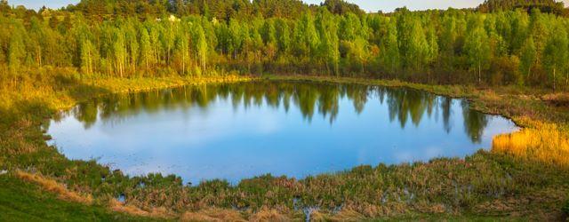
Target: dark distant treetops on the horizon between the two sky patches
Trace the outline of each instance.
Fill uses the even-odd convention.
[[[344,14],[348,12],[364,13],[357,4],[343,0],[326,0],[322,6],[330,12]],[[137,15],[160,17],[174,14],[178,17],[202,15],[208,20],[286,18],[293,19],[303,12],[315,12],[318,5],[304,4],[301,0],[82,0],[79,4],[69,5],[68,12],[82,12],[92,19],[109,19]]]

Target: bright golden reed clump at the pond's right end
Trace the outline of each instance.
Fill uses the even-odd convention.
[[[534,128],[494,137],[492,152],[569,167],[567,133],[552,123],[534,125]]]

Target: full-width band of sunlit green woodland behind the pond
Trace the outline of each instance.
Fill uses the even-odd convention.
[[[516,2],[386,14],[341,0],[83,0],[39,12],[2,0],[0,81],[75,68],[79,78],[238,72],[569,89],[563,4]]]

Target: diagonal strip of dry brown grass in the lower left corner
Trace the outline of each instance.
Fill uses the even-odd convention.
[[[69,202],[81,202],[84,204],[92,203],[92,196],[90,194],[84,195],[70,191],[65,185],[62,185],[51,178],[45,178],[42,175],[28,173],[22,170],[16,170],[16,177],[28,182],[36,183],[48,192],[57,194],[62,200]]]

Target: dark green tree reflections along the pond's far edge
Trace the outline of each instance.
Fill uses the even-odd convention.
[[[389,120],[397,121],[402,129],[410,124],[418,126],[421,120],[442,117],[442,127],[447,133],[453,129],[451,106],[453,99],[431,93],[405,88],[385,88],[361,84],[302,83],[302,82],[255,82],[186,86],[160,91],[115,94],[102,99],[81,103],[68,114],[88,129],[97,120],[108,123],[123,122],[140,112],[160,112],[176,108],[200,108],[207,110],[216,99],[230,99],[233,108],[240,107],[291,107],[298,108],[308,122],[315,113],[333,124],[339,113],[339,101],[348,98],[357,114],[365,109],[370,97],[387,102]],[[375,101],[375,100],[374,100]],[[293,106],[292,106],[293,105]],[[480,142],[488,115],[474,111],[461,99],[464,131],[473,142]],[[435,115],[435,116],[433,116]]]

